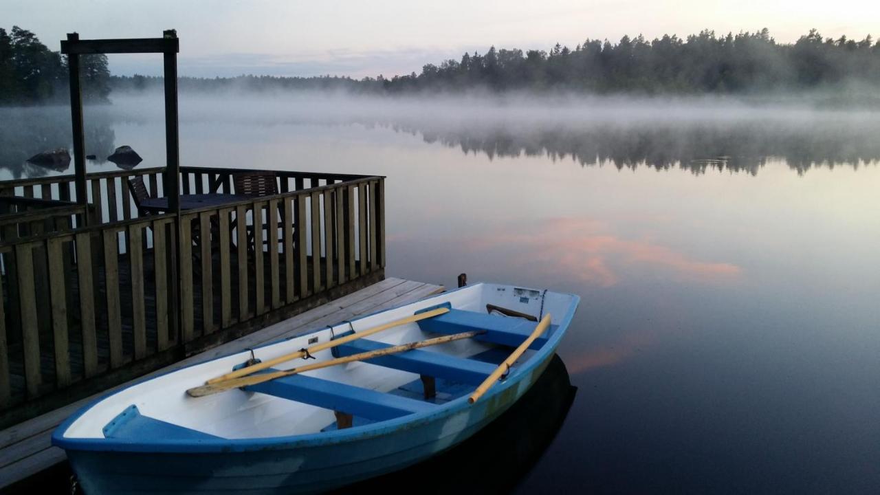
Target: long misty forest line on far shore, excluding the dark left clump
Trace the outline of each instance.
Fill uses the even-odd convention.
[[[794,43],[778,43],[765,28],[716,35],[704,30],[686,38],[647,40],[624,36],[617,43],[586,40],[574,49],[548,51],[489,48],[460,60],[428,63],[419,74],[385,78],[180,78],[186,91],[244,89],[343,90],[365,93],[490,92],[530,90],[590,93],[694,94],[803,91],[861,84],[880,85],[880,41],[825,38],[815,29]],[[113,79],[126,90],[161,85],[161,78]]]

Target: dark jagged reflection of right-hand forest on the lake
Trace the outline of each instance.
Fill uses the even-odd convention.
[[[489,159],[546,156],[581,166],[612,163],[619,169],[680,167],[758,174],[768,157],[784,159],[798,174],[810,168],[876,165],[880,122],[841,119],[803,122],[599,122],[438,126],[430,122],[380,122],[399,132],[421,135],[426,143],[485,153]]]

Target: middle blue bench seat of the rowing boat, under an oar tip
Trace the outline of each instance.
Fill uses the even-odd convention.
[[[391,344],[361,338],[335,347],[333,352],[334,357],[341,358],[360,352],[378,351],[388,347],[392,347]],[[486,377],[492,374],[496,367],[473,359],[456,358],[455,356],[447,356],[439,352],[420,351],[418,349],[400,352],[400,354],[379,356],[378,358],[367,359],[364,362],[410,373],[433,376],[435,378],[472,383],[474,385],[479,385],[483,380],[486,380]]]

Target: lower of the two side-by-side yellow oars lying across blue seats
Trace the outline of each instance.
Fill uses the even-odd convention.
[[[192,397],[202,397],[204,395],[211,395],[216,394],[217,392],[223,392],[224,390],[230,390],[231,388],[241,388],[248,385],[256,385],[257,383],[262,383],[268,380],[275,380],[276,378],[290,376],[291,374],[317,370],[320,368],[326,368],[327,366],[343,365],[352,361],[362,361],[370,358],[378,358],[379,356],[387,356],[388,354],[397,354],[398,352],[411,351],[413,349],[419,349],[420,347],[428,347],[429,345],[445,344],[454,340],[470,338],[472,336],[478,336],[484,333],[486,333],[486,330],[475,330],[471,332],[453,334],[451,336],[438,336],[436,338],[429,338],[428,340],[411,342],[409,344],[393,345],[392,347],[386,347],[385,349],[379,349],[378,351],[361,352],[358,354],[352,354],[351,356],[346,356],[345,358],[336,358],[320,363],[312,363],[311,365],[299,366],[298,368],[291,368],[289,370],[282,370],[273,373],[254,374],[251,376],[236,378],[233,380],[224,380],[222,382],[210,385],[202,385],[202,387],[190,388],[189,390],[187,390],[187,394]]]

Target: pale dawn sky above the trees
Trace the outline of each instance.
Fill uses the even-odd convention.
[[[0,0],[0,27],[21,26],[59,49],[80,39],[158,37],[177,29],[179,74],[362,78],[418,72],[425,63],[496,48],[574,48],[624,34],[652,39],[702,29],[770,29],[792,42],[880,36],[880,2],[858,0]],[[111,55],[114,74],[159,75],[159,55]]]

